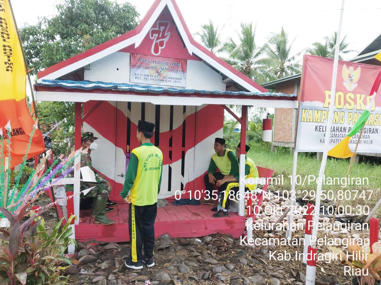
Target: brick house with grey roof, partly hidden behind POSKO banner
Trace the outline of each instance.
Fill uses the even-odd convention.
[[[381,62],[374,57],[381,52],[381,33],[375,40],[371,41],[359,54],[348,60],[349,62],[365,63],[370,65],[381,65]],[[268,90],[284,94],[298,94],[300,96],[301,73],[291,75],[285,78],[268,82],[262,86]],[[296,122],[298,118],[298,109],[275,108],[274,127],[271,142],[271,149],[275,146],[290,147],[293,152],[296,138]]]

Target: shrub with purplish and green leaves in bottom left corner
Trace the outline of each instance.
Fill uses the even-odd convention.
[[[0,207],[12,226],[10,231],[0,230],[0,284],[66,284],[67,278],[60,275],[55,265],[58,261],[72,263],[64,256],[64,252],[71,242],[75,242],[69,238],[72,234],[69,224],[74,216],[59,231],[63,220],[61,218],[53,232],[48,234],[43,218],[37,220],[37,216],[48,208],[33,214],[22,223],[27,206],[21,209],[16,219]],[[33,226],[32,222],[35,222]]]

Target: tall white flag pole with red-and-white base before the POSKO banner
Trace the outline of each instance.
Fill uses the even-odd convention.
[[[340,46],[340,34],[341,34],[341,24],[343,22],[343,13],[344,13],[344,1],[341,2],[341,11],[340,11],[340,20],[339,20],[339,29],[337,31],[337,37],[336,37],[336,48],[335,48],[335,59],[333,61],[333,74],[332,74],[332,85],[331,85],[331,103],[330,108],[328,112],[328,122],[327,122],[327,131],[324,141],[324,151],[323,151],[323,158],[322,158],[322,164],[320,165],[320,171],[319,171],[319,180],[323,180],[323,175],[325,171],[325,165],[327,163],[327,155],[328,155],[328,138],[330,137],[331,133],[331,126],[332,126],[332,120],[333,117],[333,107],[335,106],[335,95],[336,95],[336,79],[337,79],[337,69],[338,69],[338,60],[339,60],[339,46]],[[316,237],[317,237],[317,223],[319,222],[319,212],[320,212],[320,196],[322,194],[322,183],[317,184],[316,189],[316,201],[315,201],[315,215],[314,215],[314,223],[313,223],[313,229],[312,229],[312,236],[311,236],[311,249],[313,253],[316,253]],[[313,254],[314,255],[314,254]],[[308,262],[308,261],[312,262]],[[316,273],[316,259],[315,256],[307,256],[307,270],[306,270],[306,285],[314,285],[315,284],[315,273]]]

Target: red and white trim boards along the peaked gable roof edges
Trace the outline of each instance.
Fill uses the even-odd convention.
[[[231,67],[228,63],[221,60],[215,54],[208,51],[201,44],[197,43],[192,38],[191,33],[186,27],[175,0],[156,0],[150,8],[149,13],[142,19],[134,30],[40,71],[38,73],[37,82],[41,82],[42,79],[58,79],[65,74],[79,70],[90,63],[93,63],[106,57],[107,55],[120,51],[133,44],[135,48],[138,48],[141,46],[144,39],[147,38],[150,30],[154,29],[156,26],[158,27],[158,18],[160,14],[163,13],[164,9],[168,9],[174,24],[176,25],[179,37],[187,50],[185,51],[184,49],[186,54],[189,53],[191,56],[197,56],[220,74],[224,74],[224,76],[229,78],[229,80],[236,82],[250,92],[267,92],[266,89],[259,86],[238,70],[235,70],[235,68]]]

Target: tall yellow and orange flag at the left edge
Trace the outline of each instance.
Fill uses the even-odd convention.
[[[35,122],[26,105],[26,67],[10,3],[1,0],[0,4],[0,135],[3,136],[0,155],[7,157],[10,147],[10,168],[14,168],[22,163]],[[27,159],[44,151],[42,133],[36,128]]]

